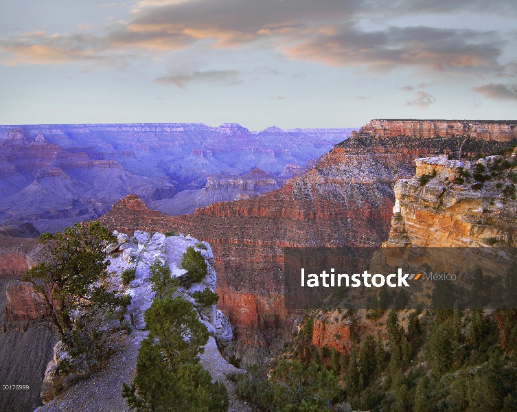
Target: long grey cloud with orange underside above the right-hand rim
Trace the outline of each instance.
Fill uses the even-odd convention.
[[[476,43],[473,41],[476,40]],[[434,27],[390,27],[365,32],[350,25],[332,36],[316,34],[284,47],[295,60],[314,60],[332,66],[365,66],[374,70],[403,66],[497,67],[501,41],[492,32]]]

